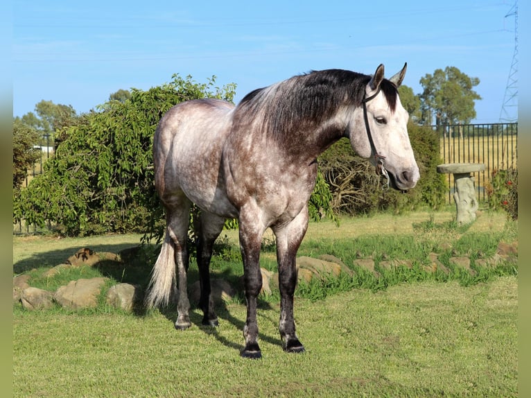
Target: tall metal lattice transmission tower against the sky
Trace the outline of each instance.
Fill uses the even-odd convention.
[[[507,12],[505,18],[514,15],[514,53],[512,55],[511,71],[505,86],[505,96],[500,112],[500,122],[512,123],[518,121],[518,1]]]

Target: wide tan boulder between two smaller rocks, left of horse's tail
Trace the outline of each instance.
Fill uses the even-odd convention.
[[[53,300],[67,309],[93,308],[98,305],[97,298],[101,292],[101,286],[107,279],[109,278],[98,277],[71,281],[55,291]]]

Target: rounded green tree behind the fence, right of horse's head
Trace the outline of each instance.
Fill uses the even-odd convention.
[[[481,96],[473,90],[479,78],[471,78],[456,67],[436,69],[433,75],[420,79],[424,92],[420,94],[422,122],[438,127],[449,124],[466,124],[476,117],[474,101]]]

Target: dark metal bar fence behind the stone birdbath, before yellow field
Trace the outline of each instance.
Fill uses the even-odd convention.
[[[435,126],[434,129],[437,129]],[[465,124],[439,129],[444,163],[482,163],[485,171],[473,173],[478,200],[488,200],[485,187],[493,171],[516,169],[518,123]],[[448,175],[448,201],[453,201],[453,175]]]

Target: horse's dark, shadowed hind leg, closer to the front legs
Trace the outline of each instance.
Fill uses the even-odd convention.
[[[201,295],[199,307],[203,311],[203,325],[218,326],[218,316],[214,311],[214,300],[211,297],[210,288],[210,259],[214,241],[219,236],[225,218],[216,216],[207,211],[202,211],[196,230],[198,233],[198,268]]]

